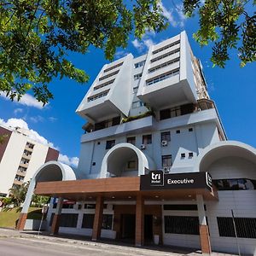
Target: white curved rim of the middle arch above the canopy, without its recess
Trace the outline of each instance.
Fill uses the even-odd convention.
[[[101,177],[108,177],[108,160],[113,157],[114,154],[122,154],[125,155],[127,152],[131,154],[136,154],[138,159],[138,176],[145,174],[145,168],[149,170],[155,169],[154,161],[146,154],[143,153],[142,150],[135,147],[131,143],[119,143],[105,154],[102,160],[102,168],[101,168]]]

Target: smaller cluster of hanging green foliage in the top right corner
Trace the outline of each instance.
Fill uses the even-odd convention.
[[[241,67],[256,61],[256,12],[248,15],[246,6],[255,6],[249,0],[184,0],[183,9],[187,16],[198,10],[200,29],[195,40],[201,46],[215,42],[212,47],[213,66],[224,67],[230,60],[229,49],[238,50]]]

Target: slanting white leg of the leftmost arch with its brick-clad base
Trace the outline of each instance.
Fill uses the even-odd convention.
[[[34,178],[32,178],[31,182],[29,183],[27,192],[26,192],[26,199],[24,201],[22,210],[20,212],[19,220],[16,225],[16,230],[24,230],[24,227],[26,224],[27,212],[28,212],[28,209],[29,209],[31,201],[32,201],[32,195],[34,193],[35,186],[36,186],[36,181]]]

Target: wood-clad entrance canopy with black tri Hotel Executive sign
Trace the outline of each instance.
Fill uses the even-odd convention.
[[[218,201],[216,189],[207,181],[207,172],[164,174],[152,171],[140,177],[39,182],[34,193],[72,201],[94,201],[98,195],[108,201],[134,200],[137,195],[154,201],[195,200],[196,195],[202,195],[206,201]]]

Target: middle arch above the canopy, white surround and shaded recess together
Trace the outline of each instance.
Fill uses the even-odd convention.
[[[140,176],[154,170],[154,161],[131,143],[119,143],[102,160],[101,177]]]

